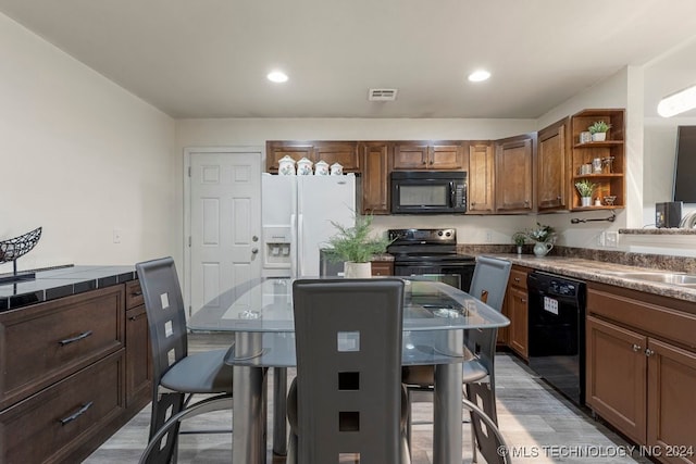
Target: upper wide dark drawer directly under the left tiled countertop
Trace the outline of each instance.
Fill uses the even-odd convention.
[[[124,346],[124,286],[0,314],[0,409]]]

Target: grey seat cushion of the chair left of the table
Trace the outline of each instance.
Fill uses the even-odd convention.
[[[227,351],[189,354],[170,367],[160,385],[190,393],[232,393],[232,366],[225,364]]]

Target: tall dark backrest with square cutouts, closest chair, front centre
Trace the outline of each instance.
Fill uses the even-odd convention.
[[[293,301],[297,462],[399,462],[403,281],[296,280]]]

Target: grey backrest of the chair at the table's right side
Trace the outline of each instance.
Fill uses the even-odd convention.
[[[510,278],[512,263],[492,256],[476,258],[474,276],[471,279],[469,294],[496,311],[502,311],[502,300]]]

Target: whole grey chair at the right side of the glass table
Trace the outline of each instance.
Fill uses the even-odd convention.
[[[510,269],[512,264],[509,261],[492,258],[478,256],[474,275],[471,280],[469,294],[488,304],[496,311],[502,311],[502,302],[505,300],[508,279],[510,278]],[[484,411],[497,424],[497,411],[495,401],[495,352],[497,329],[488,330],[465,330],[464,347],[469,352],[469,359],[463,363],[462,385],[465,387],[465,396],[471,399],[473,396],[483,398]],[[409,393],[411,391],[432,391],[434,385],[434,371],[432,366],[414,366],[402,369],[402,381],[408,386]],[[408,436],[410,438],[410,410],[411,401],[409,394],[409,427]],[[473,417],[472,417],[473,422]],[[472,448],[473,460],[476,462],[476,441],[482,444],[481,439],[484,435],[481,430],[477,432],[472,423]],[[481,437],[480,440],[477,438]],[[488,437],[485,437],[488,441]],[[495,451],[495,449],[494,449]],[[486,460],[489,456],[486,451]],[[495,456],[495,453],[490,459]],[[490,461],[488,461],[490,462]]]

